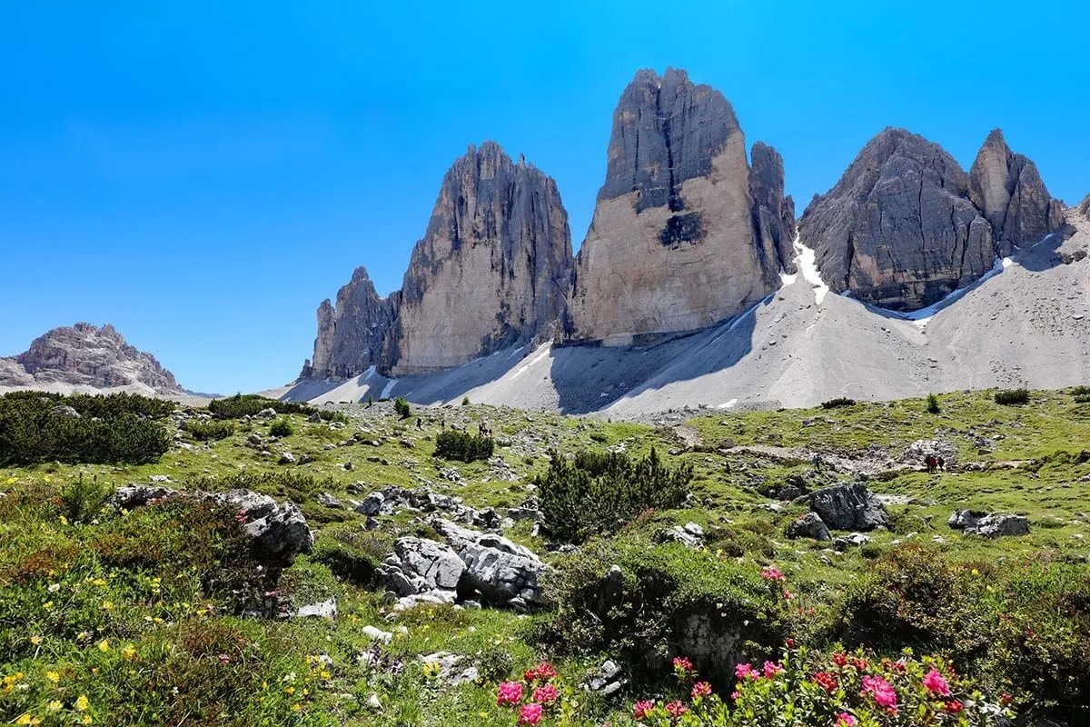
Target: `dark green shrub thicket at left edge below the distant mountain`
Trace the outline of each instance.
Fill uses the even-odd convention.
[[[62,405],[81,415],[52,413]],[[170,448],[170,437],[152,413],[166,411],[162,402],[135,395],[0,397],[0,463],[154,462]]]

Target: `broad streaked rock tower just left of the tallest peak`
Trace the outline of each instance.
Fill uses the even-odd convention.
[[[447,172],[405,272],[396,375],[458,366],[552,337],[571,275],[556,182],[495,143]]]

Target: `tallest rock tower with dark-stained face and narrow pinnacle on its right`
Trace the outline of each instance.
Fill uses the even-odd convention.
[[[754,154],[751,177],[720,93],[683,71],[640,71],[614,112],[606,180],[576,260],[569,336],[625,344],[692,330],[778,287],[777,245],[789,241],[794,214],[778,155]]]

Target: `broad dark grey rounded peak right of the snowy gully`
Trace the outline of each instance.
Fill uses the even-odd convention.
[[[892,310],[933,303],[988,271],[992,226],[969,175],[942,147],[886,129],[799,220],[802,244],[836,292]]]

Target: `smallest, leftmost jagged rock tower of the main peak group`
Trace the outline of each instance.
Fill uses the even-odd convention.
[[[375,291],[367,271],[359,267],[352,280],[318,306],[318,336],[310,376],[359,376],[370,366],[385,366],[386,340],[395,317],[395,302]]]

